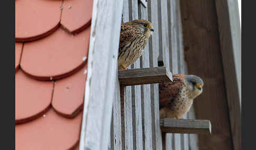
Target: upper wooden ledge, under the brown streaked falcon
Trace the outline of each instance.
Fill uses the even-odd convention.
[[[140,85],[171,82],[172,73],[166,67],[138,68],[118,71],[120,84]]]

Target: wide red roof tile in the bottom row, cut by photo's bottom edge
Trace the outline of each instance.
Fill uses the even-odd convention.
[[[80,138],[82,112],[74,119],[57,115],[53,109],[38,119],[15,126],[15,149],[71,149]]]

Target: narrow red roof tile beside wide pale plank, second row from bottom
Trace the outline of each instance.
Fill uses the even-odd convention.
[[[74,117],[81,111],[84,101],[87,65],[69,78],[57,80],[54,85],[52,106],[66,117]]]

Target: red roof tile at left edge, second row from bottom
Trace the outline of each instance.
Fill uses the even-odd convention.
[[[52,93],[52,81],[34,80],[18,70],[15,74],[15,122],[26,122],[42,115],[50,108]]]

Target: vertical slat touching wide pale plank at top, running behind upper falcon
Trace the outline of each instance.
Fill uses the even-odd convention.
[[[129,0],[124,0],[123,4],[123,23],[129,22]],[[130,69],[131,66],[128,68]],[[132,119],[132,87],[125,87],[123,99],[123,128],[122,128],[122,149],[133,149],[133,119]],[[135,135],[134,135],[135,136]]]

